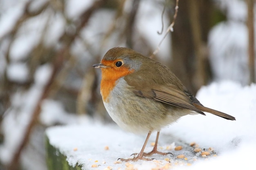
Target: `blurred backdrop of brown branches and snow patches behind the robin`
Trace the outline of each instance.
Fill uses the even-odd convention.
[[[0,170],[46,170],[47,127],[111,123],[92,64],[114,46],[152,55],[175,3],[0,0]],[[180,0],[153,58],[194,95],[213,81],[251,84],[254,15],[254,0]]]

